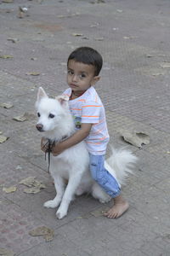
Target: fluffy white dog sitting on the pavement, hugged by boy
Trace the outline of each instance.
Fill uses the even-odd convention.
[[[52,99],[47,96],[42,87],[38,90],[37,130],[42,131],[43,137],[51,142],[60,142],[75,132],[68,101],[67,96]],[[122,185],[127,174],[132,172],[131,164],[134,164],[136,160],[136,156],[128,150],[112,149],[111,157],[105,161],[105,167]],[[88,165],[89,156],[84,142],[66,149],[58,156],[50,155],[49,172],[54,178],[57,195],[54,200],[45,202],[44,207],[59,207],[56,212],[57,218],[65,217],[74,195],[88,192],[102,203],[111,200],[111,197],[92,179]],[[65,179],[68,180],[66,187]]]

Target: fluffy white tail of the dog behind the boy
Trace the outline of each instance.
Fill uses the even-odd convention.
[[[138,158],[130,150],[111,147],[111,156],[105,161],[105,168],[122,185],[125,183],[128,174],[133,173],[133,165],[137,160]]]

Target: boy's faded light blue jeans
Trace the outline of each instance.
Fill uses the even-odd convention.
[[[99,183],[102,189],[104,189],[105,192],[112,198],[120,195],[121,189],[116,181],[116,178],[105,169],[105,155],[89,154],[89,156],[90,172],[94,180]]]

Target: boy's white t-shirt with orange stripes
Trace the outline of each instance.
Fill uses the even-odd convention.
[[[63,94],[71,96],[71,88],[65,90]],[[94,87],[91,86],[82,96],[70,100],[69,107],[77,129],[81,128],[81,123],[93,124],[88,137],[84,140],[88,152],[91,154],[105,154],[109,142],[105,108]]]

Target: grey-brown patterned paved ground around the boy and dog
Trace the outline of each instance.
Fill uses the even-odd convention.
[[[8,137],[0,144],[0,255],[170,255],[169,9],[168,0],[0,0],[0,103],[13,104],[0,108],[1,137]],[[101,214],[112,202],[89,195],[72,202],[62,220],[42,207],[54,185],[35,128],[37,88],[51,96],[65,90],[67,57],[81,45],[104,57],[96,90],[111,143],[139,156],[122,188],[130,208],[118,219]],[[13,119],[24,114],[25,121]],[[128,145],[122,129],[144,132],[150,143]],[[28,188],[20,183],[26,177],[46,188],[28,194],[38,183]],[[42,226],[54,230],[52,241],[29,235]]]

